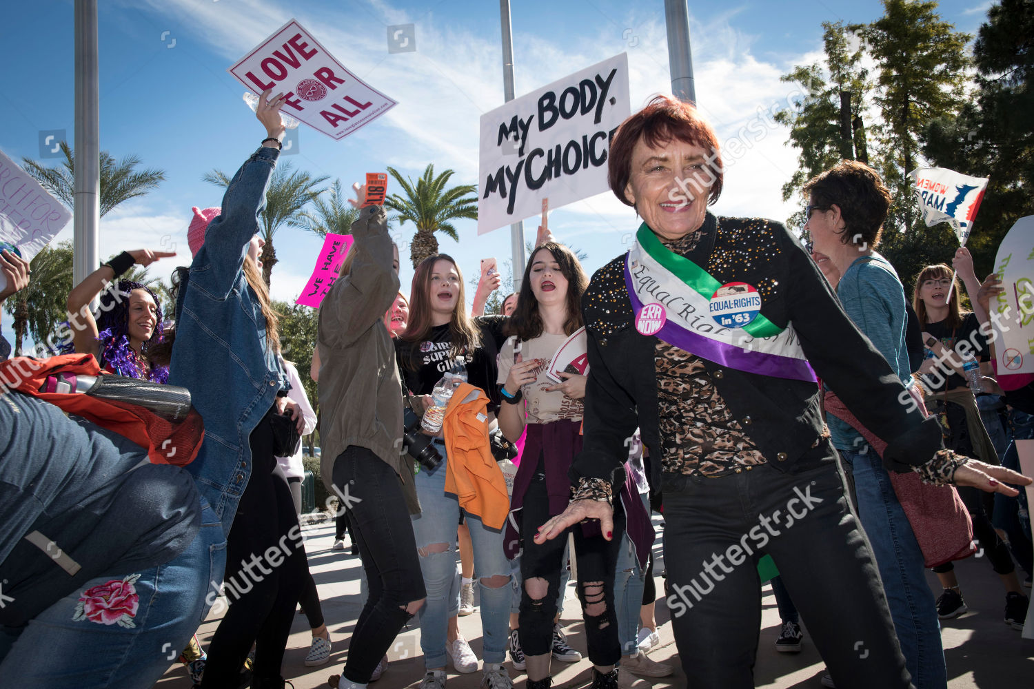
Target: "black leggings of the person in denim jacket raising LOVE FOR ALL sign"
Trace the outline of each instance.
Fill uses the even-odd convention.
[[[272,427],[263,419],[251,432],[251,476],[226,537],[230,608],[209,645],[203,689],[236,687],[252,643],[254,677],[280,677],[307,563],[291,489],[276,466],[272,441]]]

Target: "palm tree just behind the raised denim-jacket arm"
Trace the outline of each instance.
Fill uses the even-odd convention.
[[[315,199],[326,189],[316,187],[326,182],[329,177],[312,177],[305,170],[293,170],[290,162],[278,165],[270,180],[266,191],[266,208],[262,212],[262,228],[260,234],[266,241],[262,250],[262,272],[269,286],[273,267],[277,263],[276,250],[273,248],[273,236],[281,226],[304,227],[302,209]],[[230,178],[220,169],[206,173],[202,180],[218,187],[229,187]]]

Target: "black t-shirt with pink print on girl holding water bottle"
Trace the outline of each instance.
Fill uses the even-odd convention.
[[[475,323],[481,328],[481,346],[466,352],[467,382],[488,394],[491,404],[488,410],[499,408],[499,390],[495,385],[495,358],[499,345],[506,339],[503,324],[507,316],[479,316]],[[416,348],[416,351],[414,351]],[[398,356],[398,371],[402,375],[402,386],[413,395],[430,395],[434,385],[456,364],[449,323],[435,325],[419,343],[401,339],[395,340]]]

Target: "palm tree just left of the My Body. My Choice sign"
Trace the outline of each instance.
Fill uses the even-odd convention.
[[[385,199],[385,208],[398,213],[399,222],[405,224],[413,221],[417,232],[409,245],[409,258],[416,268],[420,261],[438,252],[438,240],[434,232],[443,232],[459,241],[459,234],[452,225],[456,218],[478,218],[477,187],[473,184],[462,184],[446,188],[454,170],[447,169],[437,177],[434,176],[434,164],[427,165],[424,174],[414,185],[413,180],[402,179],[398,170],[389,167],[395,181],[405,192],[405,196],[392,194]],[[474,195],[467,195],[474,194]]]

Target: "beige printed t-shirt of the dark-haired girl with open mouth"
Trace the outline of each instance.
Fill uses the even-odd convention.
[[[572,400],[560,390],[546,390],[547,387],[557,384],[546,375],[546,371],[552,364],[553,354],[567,341],[568,337],[567,335],[543,333],[521,345],[521,361],[541,359],[539,366],[535,368],[535,382],[521,385],[521,393],[524,395],[524,409],[527,413],[526,422],[528,424],[548,424],[560,419],[580,420],[582,417],[581,400]],[[584,334],[582,337],[585,337]],[[510,369],[513,368],[516,341],[515,337],[507,339],[499,350],[499,375],[496,378],[499,384],[507,381]]]

